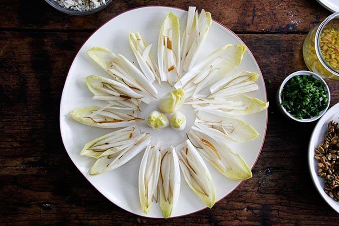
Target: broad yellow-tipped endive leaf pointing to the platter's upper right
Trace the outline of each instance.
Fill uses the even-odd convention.
[[[192,67],[174,87],[184,89],[187,96],[194,96],[238,67],[245,51],[246,46],[240,44],[228,44],[215,50]]]

